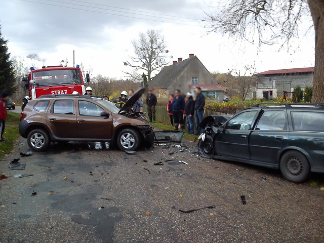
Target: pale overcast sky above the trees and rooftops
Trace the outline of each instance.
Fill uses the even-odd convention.
[[[11,56],[38,54],[45,65],[62,59],[93,68],[93,75],[126,78],[123,62],[133,54],[131,41],[140,32],[165,36],[170,64],[193,53],[210,72],[241,69],[256,62],[257,72],[314,66],[314,35],[295,41],[295,48],[241,43],[211,33],[201,24],[210,0],[1,0],[2,36]],[[214,5],[215,6],[215,5]],[[299,49],[296,49],[300,46]]]

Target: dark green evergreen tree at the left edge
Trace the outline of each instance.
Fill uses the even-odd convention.
[[[17,86],[15,85],[13,61],[10,60],[7,42],[2,37],[0,25],[0,92],[6,90],[9,95],[15,93]]]

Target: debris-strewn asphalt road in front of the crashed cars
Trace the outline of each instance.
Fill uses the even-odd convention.
[[[104,143],[52,144],[23,157],[20,139],[0,161],[11,176],[0,181],[0,241],[324,242],[323,191],[182,145],[127,154]],[[25,170],[8,169],[14,158]]]

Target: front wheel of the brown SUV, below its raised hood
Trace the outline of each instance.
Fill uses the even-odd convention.
[[[136,150],[140,145],[140,135],[134,129],[123,129],[118,134],[117,143],[121,150]]]

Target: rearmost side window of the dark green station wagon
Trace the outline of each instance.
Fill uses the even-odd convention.
[[[324,112],[291,111],[295,131],[324,132]]]

